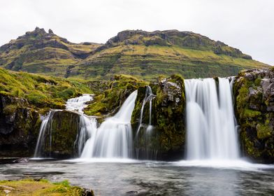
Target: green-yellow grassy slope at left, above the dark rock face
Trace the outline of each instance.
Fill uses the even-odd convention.
[[[62,108],[67,99],[92,93],[85,80],[66,80],[0,68],[0,94],[25,98],[38,108]]]

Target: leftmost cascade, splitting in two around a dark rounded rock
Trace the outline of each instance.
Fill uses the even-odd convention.
[[[77,137],[75,139],[74,146],[77,148],[76,155],[80,155],[82,153],[82,149],[84,148],[85,141],[90,137],[91,132],[96,130],[96,119],[92,117],[85,116],[83,114],[83,109],[87,106],[85,103],[92,101],[92,96],[90,94],[83,94],[80,97],[75,97],[69,99],[66,102],[66,111],[75,111],[80,113],[80,125]],[[36,143],[36,149],[34,153],[34,158],[42,158],[45,157],[44,149],[48,148],[48,151],[51,152],[51,143],[52,143],[52,117],[55,114],[55,111],[62,110],[52,110],[48,113],[48,116],[45,116],[41,123],[41,127],[39,130],[38,140]],[[49,155],[50,157],[50,155]]]

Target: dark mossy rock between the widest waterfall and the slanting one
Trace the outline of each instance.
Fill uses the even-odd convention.
[[[131,116],[135,133],[136,157],[140,159],[178,160],[183,158],[185,146],[185,86],[180,76],[159,78],[151,83],[151,125],[149,103],[143,110],[140,127],[140,110],[145,98],[145,87],[138,88],[136,105]],[[140,127],[140,128],[139,128]],[[138,132],[138,133],[137,133]]]

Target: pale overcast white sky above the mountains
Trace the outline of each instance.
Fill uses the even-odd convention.
[[[178,29],[274,65],[274,0],[0,0],[0,45],[32,31],[106,43],[126,29]]]

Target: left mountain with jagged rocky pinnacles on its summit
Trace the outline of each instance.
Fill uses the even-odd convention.
[[[71,43],[36,27],[0,47],[0,66],[13,71],[64,76],[69,66],[89,55],[98,43]]]

